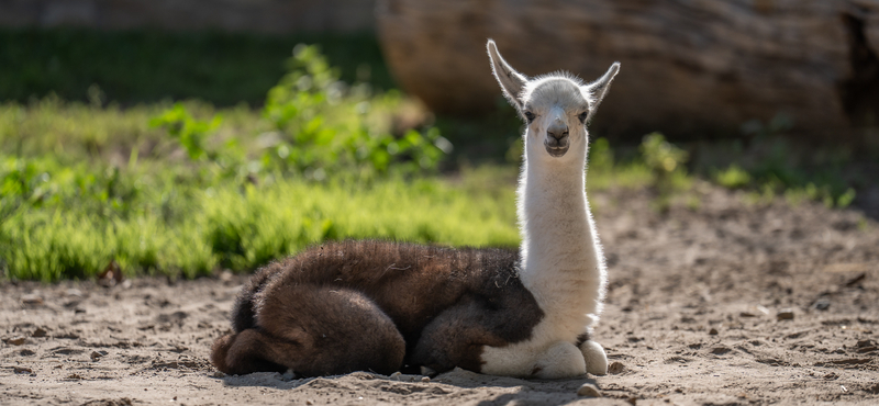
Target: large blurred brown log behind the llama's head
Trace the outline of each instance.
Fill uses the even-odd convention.
[[[398,81],[441,113],[497,105],[492,37],[526,75],[594,80],[621,61],[593,123],[605,134],[728,135],[783,115],[799,134],[877,136],[879,0],[380,0],[376,13]]]

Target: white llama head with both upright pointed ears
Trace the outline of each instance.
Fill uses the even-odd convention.
[[[561,158],[575,148],[585,158],[589,142],[586,124],[608,93],[620,63],[613,63],[604,76],[591,83],[566,72],[528,79],[503,60],[493,41],[489,40],[487,46],[494,78],[527,123],[526,157]]]

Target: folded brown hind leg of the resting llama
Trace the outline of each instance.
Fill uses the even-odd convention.
[[[315,376],[353,371],[390,374],[402,364],[402,336],[393,322],[359,292],[269,285],[256,302],[257,327],[237,337],[223,337],[214,345],[212,359],[218,369],[237,371],[231,373],[266,371],[263,360],[270,360],[268,366],[276,368],[269,371],[281,365],[299,375]]]

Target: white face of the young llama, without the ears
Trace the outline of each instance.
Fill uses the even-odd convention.
[[[526,86],[522,99],[528,150],[542,145],[541,149],[553,158],[564,157],[570,148],[585,150],[589,101],[578,83],[564,77],[536,80]]]

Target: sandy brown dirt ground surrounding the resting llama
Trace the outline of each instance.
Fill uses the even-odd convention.
[[[698,207],[666,214],[646,190],[591,196],[607,376],[224,376],[208,353],[243,277],[5,282],[0,405],[879,404],[879,224],[698,189]],[[601,397],[578,395],[583,383]]]

